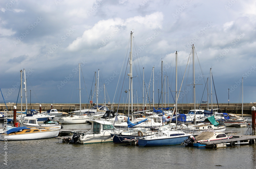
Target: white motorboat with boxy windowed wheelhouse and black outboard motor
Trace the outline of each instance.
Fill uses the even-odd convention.
[[[69,143],[102,143],[102,142],[112,142],[111,134],[120,133],[120,130],[115,129],[112,123],[104,120],[91,120],[92,127],[90,132],[86,133],[74,133]]]

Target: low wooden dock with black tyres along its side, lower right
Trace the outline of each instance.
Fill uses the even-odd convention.
[[[241,144],[254,145],[255,139],[256,139],[256,136],[252,136],[252,135],[234,135],[233,138],[231,139],[200,142],[200,144],[204,144],[208,148],[235,147]]]

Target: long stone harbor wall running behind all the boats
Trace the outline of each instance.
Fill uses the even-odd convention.
[[[13,106],[15,106],[16,103],[6,103],[6,106],[8,108],[8,111],[13,111]],[[31,103],[28,104],[28,109],[36,109],[39,110],[39,103]],[[95,103],[92,104],[91,106],[96,105]],[[103,103],[99,103],[99,105],[103,105]],[[169,107],[173,107],[173,103],[169,104]],[[200,104],[196,104],[196,109],[199,108]],[[212,104],[213,108],[218,108],[217,104]],[[6,110],[5,104],[1,103],[0,104],[0,111]],[[83,103],[81,104],[81,109],[87,109],[89,108],[90,104]],[[251,114],[251,107],[256,106],[256,103],[243,103],[243,114]],[[70,104],[70,103],[55,103],[53,108],[57,109],[58,111],[62,112],[71,112],[74,110],[79,110],[79,104]],[[127,113],[128,106],[126,104],[120,104],[118,108],[118,104],[114,104],[112,106],[106,106],[109,109],[113,107],[114,111],[117,111],[120,113]],[[161,104],[159,105],[161,107]],[[168,107],[168,104],[164,104],[163,107]],[[158,108],[158,104],[155,104],[155,108]],[[211,105],[209,104],[209,108],[211,108]],[[242,113],[242,103],[219,103],[219,108],[221,112],[227,112],[227,113],[233,113],[233,114],[241,114]],[[42,111],[47,111],[51,109],[51,103],[41,103],[41,110]],[[143,104],[134,104],[133,105],[134,110],[142,110],[143,109]],[[147,105],[147,110],[152,110],[153,105]],[[194,109],[194,104],[193,103],[181,103],[178,104],[178,111],[187,113],[189,110]],[[200,109],[207,110],[207,104],[201,104]],[[21,110],[20,103],[17,104],[17,111]],[[23,111],[26,110],[26,106],[23,104]],[[130,106],[131,110],[131,106]],[[218,111],[219,112],[219,111]]]

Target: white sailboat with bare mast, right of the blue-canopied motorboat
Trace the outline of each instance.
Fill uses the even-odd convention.
[[[79,63],[79,97],[80,97],[80,115],[70,114],[68,117],[63,117],[59,119],[62,124],[80,124],[87,123],[90,120],[88,115],[81,115],[81,86],[80,86],[80,64]]]

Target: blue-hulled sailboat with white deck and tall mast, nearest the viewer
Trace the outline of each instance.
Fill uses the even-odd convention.
[[[176,102],[176,112],[177,112],[177,62],[178,62],[178,52],[176,51],[176,91],[175,91],[175,102]],[[162,77],[163,77],[163,61],[162,61]],[[163,83],[163,80],[162,80]],[[163,84],[162,91],[163,92]],[[163,98],[162,98],[162,107],[163,107]],[[177,116],[176,116],[177,118]],[[164,119],[164,115],[163,115]],[[167,146],[167,145],[178,145],[181,144],[184,139],[187,139],[191,133],[185,133],[183,131],[177,130],[177,119],[176,119],[176,130],[169,130],[168,128],[164,128],[162,131],[158,130],[154,135],[146,136],[138,139],[139,146]]]

